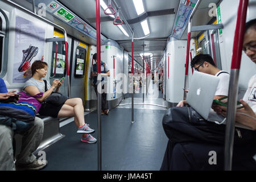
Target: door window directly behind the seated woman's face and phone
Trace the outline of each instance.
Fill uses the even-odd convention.
[[[63,77],[65,75],[65,59],[65,44],[63,42],[53,42],[51,77]]]

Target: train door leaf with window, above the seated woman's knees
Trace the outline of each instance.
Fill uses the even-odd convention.
[[[71,72],[71,97],[79,97],[84,101],[84,75],[86,64],[86,44],[74,40]]]

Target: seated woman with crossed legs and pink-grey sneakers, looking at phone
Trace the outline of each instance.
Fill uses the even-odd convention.
[[[53,90],[58,92],[63,82],[63,80],[60,82],[59,79],[53,80],[52,85],[47,82],[47,91],[45,92],[45,83],[42,78],[47,74],[47,67],[48,66],[46,62],[39,60],[34,61],[31,66],[32,77],[30,80],[26,81],[23,88],[23,90],[30,94],[30,96],[35,96],[36,94],[42,92],[43,96],[36,98],[39,102],[46,100],[46,98],[49,97]],[[82,134],[81,142],[97,142],[97,139],[90,135],[90,133],[93,133],[94,130],[90,129],[89,125],[85,123],[84,106],[82,105],[81,98],[70,98],[60,106],[47,103],[46,105],[42,105],[40,107],[39,114],[49,115],[55,118],[74,117],[75,124],[78,127],[77,133]]]

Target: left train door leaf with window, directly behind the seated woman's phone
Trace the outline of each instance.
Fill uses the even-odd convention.
[[[64,35],[58,31],[54,31],[54,35],[56,37],[63,37]],[[72,39],[70,37],[67,38],[68,42],[68,61],[70,65],[70,58],[71,58],[71,44]],[[52,83],[55,79],[61,79],[65,77],[63,80],[63,84],[59,89],[60,93],[65,94],[68,96],[68,79],[67,79],[67,69],[65,65],[65,43],[64,42],[53,42],[52,43],[52,61],[51,61],[51,69],[49,74],[49,80]],[[70,67],[70,66],[69,66]],[[48,70],[49,72],[49,70]]]

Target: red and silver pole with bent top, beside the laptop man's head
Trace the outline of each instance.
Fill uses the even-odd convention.
[[[185,64],[185,81],[184,81],[184,93],[183,93],[183,99],[186,100],[187,97],[187,90],[188,88],[188,61],[189,61],[189,49],[190,49],[190,39],[191,39],[191,27],[192,27],[192,18],[193,15],[195,14],[195,11],[197,7],[199,6],[201,0],[198,0],[196,3],[196,6],[194,7],[191,15],[189,16],[189,22],[188,22],[188,42],[187,42],[187,56],[186,56],[186,64]]]

